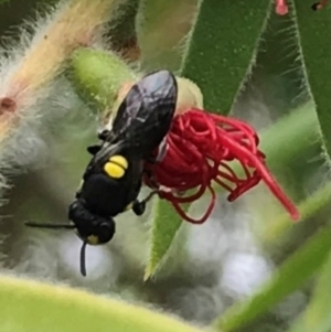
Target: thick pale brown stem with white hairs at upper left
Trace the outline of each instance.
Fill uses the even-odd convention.
[[[45,19],[32,24],[32,35],[22,28],[20,43],[8,46],[9,57],[0,63],[2,163],[8,162],[7,151],[11,157],[17,153],[11,159],[20,163],[22,151],[29,154],[36,148],[29,137],[35,135],[40,119],[52,109],[45,101],[64,62],[76,47],[95,42],[116,6],[117,0],[61,1]],[[22,130],[26,139],[18,142]]]

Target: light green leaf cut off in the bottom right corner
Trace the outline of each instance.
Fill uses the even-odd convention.
[[[317,280],[314,293],[303,314],[288,332],[331,331],[331,253]]]

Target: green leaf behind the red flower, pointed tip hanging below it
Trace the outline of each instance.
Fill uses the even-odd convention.
[[[156,2],[156,1],[154,1]],[[203,93],[205,108],[227,115],[243,79],[255,61],[258,40],[269,17],[271,1],[203,0],[188,42],[180,76],[192,79]],[[182,219],[171,205],[154,200],[152,245],[145,277],[164,261]],[[190,204],[185,212],[190,213]],[[170,217],[171,216],[171,217]]]

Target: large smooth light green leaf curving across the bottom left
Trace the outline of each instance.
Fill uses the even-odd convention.
[[[199,332],[181,321],[65,286],[0,277],[2,331]]]

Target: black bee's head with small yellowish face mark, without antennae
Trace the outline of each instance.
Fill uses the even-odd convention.
[[[68,218],[75,224],[79,238],[88,245],[106,244],[115,235],[114,219],[90,213],[82,200],[70,205]]]

